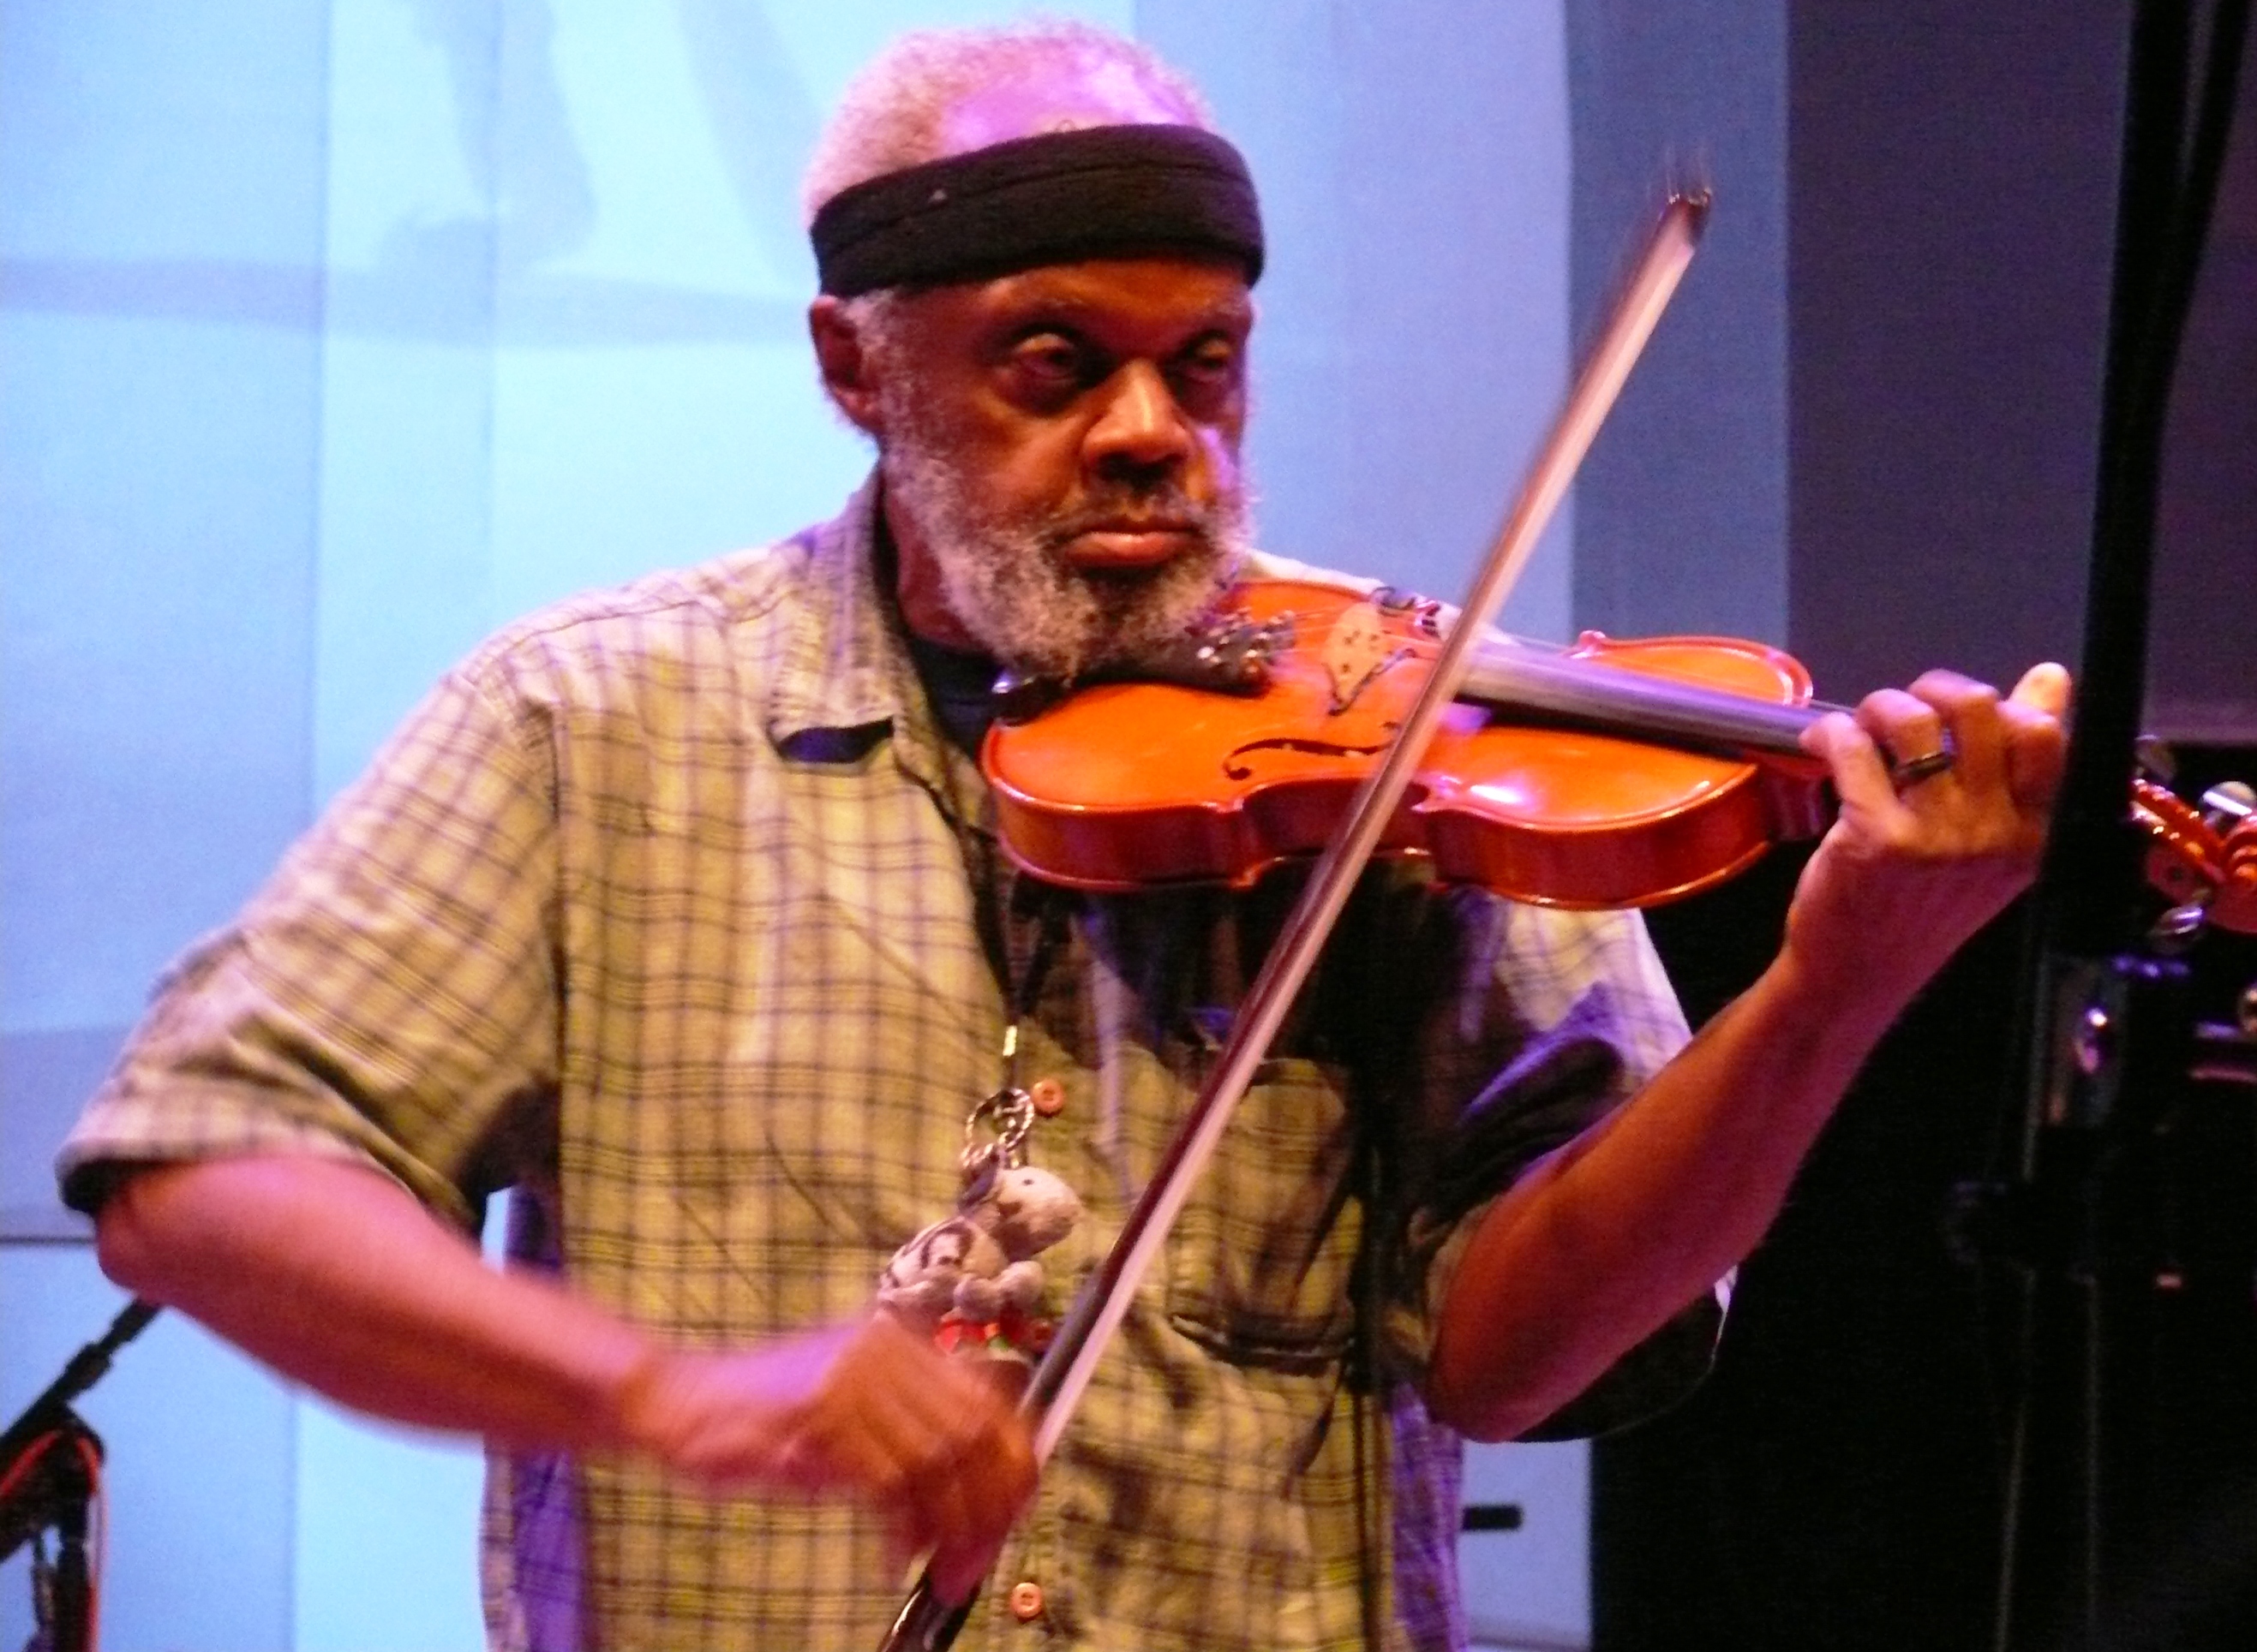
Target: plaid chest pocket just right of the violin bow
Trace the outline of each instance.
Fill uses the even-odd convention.
[[[1343,1067],[1255,1072],[1167,1246],[1167,1316],[1244,1363],[1323,1365],[1354,1332],[1363,1203]]]

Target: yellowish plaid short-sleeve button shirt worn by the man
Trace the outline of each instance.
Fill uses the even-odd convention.
[[[1086,1205],[1043,1257],[1061,1309],[1289,878],[1022,889],[871,528],[864,487],[481,648],[174,966],[63,1149],[65,1198],[235,1151],[370,1162],[463,1225],[517,1187],[519,1250],[657,1336],[745,1345],[864,1309],[950,1210],[1022,993],[1020,1077],[1065,1097],[1029,1155]],[[1681,1038],[1634,919],[1372,873],[961,1645],[1463,1638],[1458,1447],[1415,1401],[1458,1241]],[[1668,1397],[1711,1336],[1695,1304],[1562,1429]],[[882,1523],[846,1501],[510,1453],[485,1582],[492,1643],[539,1652],[869,1647],[901,1605]]]

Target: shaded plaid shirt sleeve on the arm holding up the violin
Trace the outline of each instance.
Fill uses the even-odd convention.
[[[1476,891],[1456,898],[1490,900]],[[1420,1097],[1426,1131],[1408,1155],[1404,1273],[1388,1325],[1390,1345],[1415,1372],[1426,1370],[1442,1302],[1496,1194],[1636,1095],[1688,1036],[1636,914],[1496,900],[1485,923],[1465,928],[1478,941],[1463,968],[1492,998],[1440,995],[1420,1031],[1429,1045],[1420,1063],[1429,1074]],[[1487,1081],[1467,1077],[1467,1061],[1490,1061]],[[1720,1280],[1523,1438],[1605,1433],[1681,1399],[1715,1356],[1729,1291],[1731,1280]]]

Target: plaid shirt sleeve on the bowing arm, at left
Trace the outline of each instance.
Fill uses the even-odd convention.
[[[311,1153],[474,1228],[555,1095],[546,742],[472,668],[445,679],[190,948],[56,1160],[93,1212],[135,1165]]]

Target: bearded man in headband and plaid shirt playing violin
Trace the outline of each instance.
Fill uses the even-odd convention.
[[[1259,217],[1196,93],[1079,25],[894,50],[808,192],[869,485],[451,673],[167,977],[65,1196],[133,1291],[488,1438],[494,1645],[869,1645],[921,1550],[950,1598],[998,1566],[982,1645],[1449,1645],[1456,1435],[1697,1377],[1853,1072],[2031,876],[2065,677],[1817,722],[1839,819],[1690,1043],[1632,916],[1372,869],[1038,1476],[871,1289],[1038,1095],[1056,1311],[1291,898],[1043,889],[971,756],[998,664],[1133,668],[1262,566]]]

